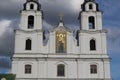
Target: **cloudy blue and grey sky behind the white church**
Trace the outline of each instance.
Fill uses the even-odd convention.
[[[20,10],[26,0],[0,0],[0,73],[11,69],[14,53],[14,29],[20,25]],[[43,29],[57,26],[59,14],[71,29],[79,29],[78,15],[83,0],[39,0],[44,14]],[[103,29],[107,29],[107,51],[111,57],[111,76],[120,80],[120,0],[96,0],[103,11]]]

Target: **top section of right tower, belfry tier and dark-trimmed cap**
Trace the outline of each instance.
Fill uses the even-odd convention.
[[[81,30],[102,30],[102,12],[95,0],[85,0],[79,15]]]

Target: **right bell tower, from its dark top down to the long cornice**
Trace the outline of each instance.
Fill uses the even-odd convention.
[[[95,0],[84,0],[79,14],[81,54],[107,54],[106,30],[102,29],[102,12]]]

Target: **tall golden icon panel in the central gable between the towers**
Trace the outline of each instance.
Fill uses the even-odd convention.
[[[65,31],[56,32],[56,52],[66,53],[66,32]]]

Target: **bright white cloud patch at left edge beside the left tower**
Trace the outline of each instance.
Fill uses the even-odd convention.
[[[11,24],[10,20],[2,20],[0,21],[0,36],[9,28]],[[9,29],[11,31],[11,29]]]

